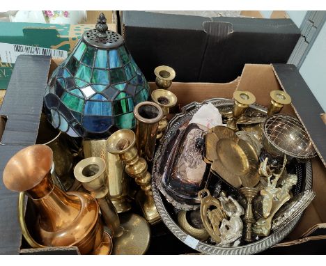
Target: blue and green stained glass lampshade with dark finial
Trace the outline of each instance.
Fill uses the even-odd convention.
[[[122,36],[107,31],[101,15],[96,29],[86,31],[54,70],[45,93],[49,121],[73,137],[103,139],[131,129],[134,106],[148,99],[145,77]]]

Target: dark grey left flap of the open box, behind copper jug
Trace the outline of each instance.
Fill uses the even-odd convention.
[[[22,233],[17,193],[3,185],[3,169],[16,152],[36,143],[50,56],[18,56],[0,116],[7,119],[0,145],[0,253],[19,254]]]

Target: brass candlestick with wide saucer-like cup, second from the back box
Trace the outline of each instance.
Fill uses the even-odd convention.
[[[156,136],[156,139],[161,139],[168,125],[168,120],[166,119],[166,116],[169,114],[169,109],[176,105],[178,98],[171,91],[163,89],[157,89],[153,91],[151,96],[152,100],[158,105],[160,105],[163,110],[163,118],[159,122]]]

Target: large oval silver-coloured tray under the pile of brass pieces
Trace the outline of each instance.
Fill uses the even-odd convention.
[[[164,175],[164,165],[165,162],[162,162],[163,155],[166,152],[169,152],[169,143],[171,139],[173,139],[177,132],[178,128],[187,125],[189,120],[191,120],[192,116],[198,111],[198,109],[208,102],[211,102],[215,107],[217,107],[220,113],[228,114],[232,111],[233,100],[222,99],[222,98],[214,98],[210,100],[206,100],[202,103],[192,102],[191,104],[183,107],[183,111],[180,114],[176,114],[169,122],[169,125],[166,130],[165,136],[161,139],[160,145],[155,152],[155,158],[153,162],[153,171],[152,171],[152,189],[153,189],[153,197],[155,201],[155,205],[157,211],[160,213],[162,217],[162,221],[164,224],[171,230],[173,235],[176,235],[178,239],[192,249],[199,251],[201,253],[206,254],[253,254],[259,253],[268,249],[275,244],[281,242],[281,240],[288,235],[293,228],[297,225],[304,208],[300,208],[301,212],[297,212],[293,214],[293,219],[289,219],[287,217],[286,221],[284,221],[283,226],[281,228],[277,228],[267,237],[263,237],[256,242],[252,242],[250,244],[245,244],[239,247],[216,247],[215,245],[208,244],[205,242],[201,242],[199,240],[190,237],[187,233],[185,233],[180,226],[178,226],[178,219],[176,218],[176,209],[173,208],[173,205],[176,206],[176,203],[173,202],[174,199],[169,196],[169,194],[164,191],[164,187],[162,186],[162,175]],[[267,109],[265,107],[261,107],[258,104],[251,105],[244,116],[252,117],[252,118],[262,118],[267,114]],[[300,163],[295,166],[295,174],[297,174],[298,182],[295,187],[293,187],[293,195],[300,194],[300,192],[306,191],[307,189],[312,188],[312,170],[311,170],[311,162]],[[173,202],[173,205],[171,205]],[[178,203],[177,203],[178,204]],[[180,204],[181,205],[181,204]],[[188,210],[192,210],[192,206],[188,206]],[[306,207],[306,206],[305,206]],[[284,210],[288,208],[284,206],[279,210],[280,212],[286,212]],[[183,209],[180,206],[180,209]],[[276,216],[277,217],[277,216]]]

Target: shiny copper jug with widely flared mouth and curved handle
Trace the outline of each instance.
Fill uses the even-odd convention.
[[[52,181],[53,152],[45,145],[33,145],[17,152],[3,171],[4,185],[13,191],[26,191],[38,208],[38,242],[24,235],[32,247],[78,247],[81,254],[108,254],[111,237],[104,233],[95,199],[85,193],[61,191]],[[19,214],[22,233],[24,196],[20,196]],[[38,244],[40,243],[40,244]]]

